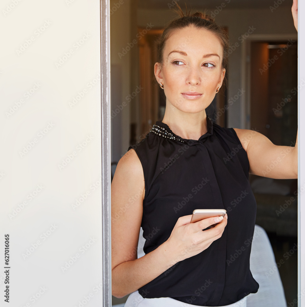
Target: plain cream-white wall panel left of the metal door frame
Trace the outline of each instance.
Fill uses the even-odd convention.
[[[5,0],[0,9],[3,266],[4,234],[10,235],[1,300],[9,286],[11,306],[97,306],[100,2]]]

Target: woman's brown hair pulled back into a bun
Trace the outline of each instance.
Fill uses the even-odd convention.
[[[217,25],[214,22],[214,18],[212,18],[210,15],[206,14],[205,12],[195,12],[193,14],[190,14],[190,11],[187,12],[186,9],[186,15],[183,14],[181,7],[178,5],[177,2],[175,2],[177,5],[177,8],[174,9],[176,13],[179,14],[180,18],[174,19],[169,23],[169,25],[166,26],[166,28],[163,30],[163,33],[158,37],[157,44],[158,44],[158,55],[157,55],[157,61],[161,64],[163,64],[163,51],[165,47],[165,43],[167,39],[170,37],[170,34],[175,29],[183,29],[185,27],[188,27],[190,25],[194,25],[196,28],[200,29],[207,29],[214,33],[217,38],[219,39],[221,46],[222,46],[222,68],[225,68],[227,70],[228,65],[228,49],[229,49],[229,36],[225,29],[222,26]],[[225,79],[224,79],[225,82]]]

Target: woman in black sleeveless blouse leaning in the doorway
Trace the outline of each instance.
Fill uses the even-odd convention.
[[[292,13],[297,28],[296,0]],[[256,201],[248,174],[297,178],[297,145],[266,175],[287,146],[213,124],[205,109],[225,78],[228,37],[202,13],[180,14],[154,66],[164,118],[129,147],[111,184],[112,294],[131,293],[127,307],[246,306],[259,287],[249,269]],[[227,214],[202,231],[219,222],[190,223],[202,208]],[[146,255],[137,259],[141,226]]]

